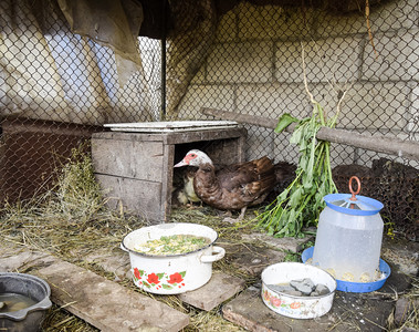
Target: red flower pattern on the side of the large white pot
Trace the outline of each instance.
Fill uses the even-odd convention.
[[[134,282],[138,287],[144,287],[147,289],[155,290],[172,290],[174,288],[182,288],[185,287],[185,276],[186,271],[175,272],[167,274],[166,272],[157,273],[151,272],[148,273],[145,270],[140,270],[138,268],[132,269]]]

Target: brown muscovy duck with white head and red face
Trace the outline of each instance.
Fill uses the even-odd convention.
[[[175,167],[198,167],[193,177],[195,193],[203,203],[217,209],[241,210],[238,219],[224,219],[232,222],[243,219],[248,206],[261,204],[266,198],[283,179],[285,172],[282,168],[295,170],[295,166],[285,162],[277,165],[265,156],[216,170],[206,153],[191,149]]]

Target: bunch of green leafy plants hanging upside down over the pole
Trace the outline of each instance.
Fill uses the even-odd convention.
[[[324,209],[323,197],[337,193],[332,177],[331,143],[317,141],[316,134],[322,126],[335,127],[346,91],[339,95],[335,115],[326,120],[323,107],[307,87],[304,50],[303,70],[305,89],[313,104],[312,116],[297,120],[285,113],[275,128],[275,133],[282,133],[291,123],[297,123],[290,139],[291,144],[298,145],[300,151],[295,179],[256,217],[258,227],[274,237],[303,236],[303,227],[317,225],[320,212]]]

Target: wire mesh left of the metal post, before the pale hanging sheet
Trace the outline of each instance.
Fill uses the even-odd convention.
[[[43,190],[59,160],[104,123],[150,121],[160,110],[155,72],[121,84],[109,48],[72,33],[54,1],[42,11],[0,2],[0,197],[11,200]],[[142,45],[159,73],[158,56],[146,56],[155,41]]]

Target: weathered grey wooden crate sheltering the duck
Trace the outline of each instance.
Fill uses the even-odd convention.
[[[95,176],[108,205],[165,222],[171,206],[174,165],[191,148],[205,151],[214,164],[244,160],[247,131],[239,127],[171,133],[95,133]]]

